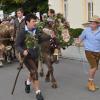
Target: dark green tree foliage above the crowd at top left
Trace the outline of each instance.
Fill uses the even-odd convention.
[[[11,13],[20,7],[25,13],[37,11],[44,13],[48,10],[48,0],[0,0],[0,3],[5,13]]]

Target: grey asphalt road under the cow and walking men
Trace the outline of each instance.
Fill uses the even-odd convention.
[[[87,67],[88,64],[84,63]],[[18,63],[7,64],[0,68],[0,100],[36,100],[34,91],[30,94],[24,92],[24,81],[28,71],[24,68],[19,76],[15,93],[12,96],[11,90],[17,74]],[[61,59],[55,64],[55,77],[58,82],[58,89],[52,89],[50,83],[40,78],[41,90],[45,100],[100,100],[100,90],[91,93],[86,89],[87,74],[82,68],[82,62]],[[44,66],[46,71],[46,67]],[[97,72],[96,83],[100,86],[100,72]]]

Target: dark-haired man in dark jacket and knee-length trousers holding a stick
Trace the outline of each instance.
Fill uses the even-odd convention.
[[[19,32],[16,39],[16,49],[18,52],[20,52],[21,56],[23,57],[23,62],[30,72],[31,82],[33,83],[33,88],[36,93],[36,99],[44,100],[38,81],[38,46],[34,44],[35,40],[30,39],[33,37],[37,37],[36,40],[38,39],[38,32],[35,28],[36,20],[37,17],[33,14],[26,16],[26,25],[24,29]],[[30,82],[26,81],[25,86],[26,93],[30,93]]]

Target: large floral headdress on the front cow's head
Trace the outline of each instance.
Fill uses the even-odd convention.
[[[62,14],[57,14],[53,18],[46,18],[44,21],[38,22],[37,27],[47,35],[50,35],[51,39],[56,39],[61,48],[66,48],[74,42],[69,33],[69,23],[66,22]]]

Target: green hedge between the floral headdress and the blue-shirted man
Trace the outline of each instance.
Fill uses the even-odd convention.
[[[82,28],[76,28],[76,29],[70,28],[69,29],[70,35],[73,38],[78,38],[80,36],[80,34],[82,33],[82,31],[83,31]]]

